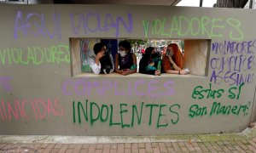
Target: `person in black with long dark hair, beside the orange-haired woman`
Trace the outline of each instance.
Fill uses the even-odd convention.
[[[150,74],[155,76],[160,76],[160,66],[161,59],[160,55],[155,52],[155,48],[146,48],[143,58],[140,60],[139,72],[143,74]]]

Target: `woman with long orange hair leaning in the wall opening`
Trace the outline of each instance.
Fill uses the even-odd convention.
[[[183,70],[183,54],[176,43],[167,46],[166,53],[163,54],[163,67],[166,73],[170,74],[188,74],[188,70]]]

